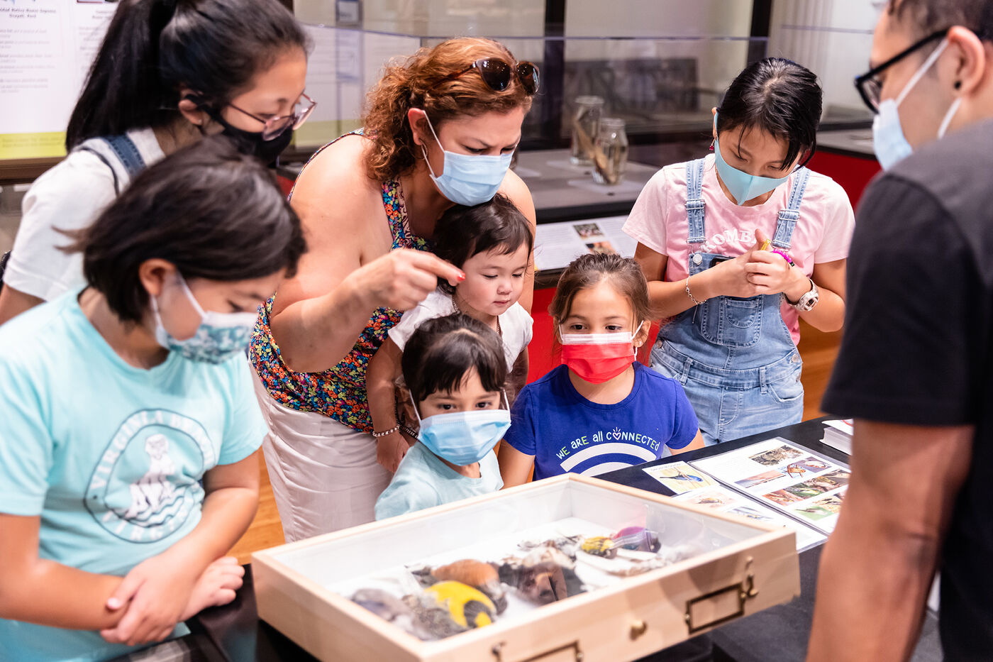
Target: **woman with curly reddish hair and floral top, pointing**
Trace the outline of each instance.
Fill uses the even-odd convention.
[[[537,69],[492,40],[422,49],[369,92],[363,131],[322,148],[300,174],[292,205],[310,252],[266,304],[251,346],[287,540],[374,519],[390,479],[376,440],[400,421],[373,430],[368,360],[439,277],[465,278],[429,252],[445,210],[500,192],[534,223],[530,193],[508,166],[537,87]],[[519,300],[529,309],[525,277]]]

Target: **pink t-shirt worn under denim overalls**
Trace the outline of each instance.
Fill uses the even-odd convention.
[[[780,210],[793,177],[762,205],[741,207],[728,200],[717,181],[714,155],[706,157],[702,196],[706,203],[705,239],[694,250],[737,257],[755,246],[755,230],[772,239]],[[667,165],[645,184],[624,231],[646,248],[666,255],[665,280],[683,280],[689,274],[689,223],[686,217],[686,164]],[[789,254],[808,276],[813,265],[848,256],[855,229],[855,214],[848,195],[833,179],[811,171],[800,204],[800,219],[793,230]],[[783,301],[782,319],[793,342],[800,339],[799,314]]]

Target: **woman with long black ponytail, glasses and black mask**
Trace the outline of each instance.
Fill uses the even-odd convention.
[[[123,0],[66,133],[25,196],[0,324],[82,284],[59,231],[93,222],[145,166],[222,132],[270,163],[313,106],[308,40],[278,0]]]

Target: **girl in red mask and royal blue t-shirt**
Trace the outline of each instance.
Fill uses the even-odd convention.
[[[521,390],[499,452],[505,487],[574,472],[588,476],[703,446],[678,382],[635,361],[651,311],[638,263],[579,257],[548,309],[562,364]]]

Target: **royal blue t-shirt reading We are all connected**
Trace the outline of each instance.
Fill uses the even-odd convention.
[[[596,476],[669,454],[696,436],[698,423],[675,380],[635,363],[635,386],[615,405],[583,398],[559,366],[517,395],[503,439],[534,455],[534,479]]]

